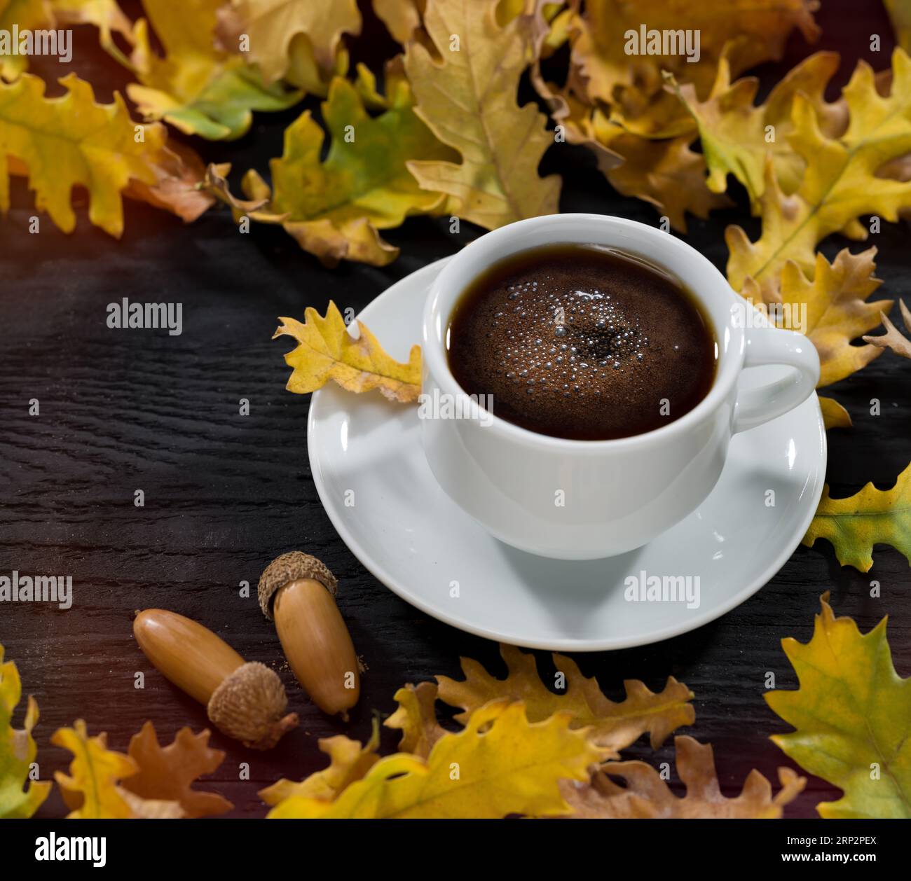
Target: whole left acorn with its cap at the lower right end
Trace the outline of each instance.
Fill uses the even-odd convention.
[[[251,749],[271,749],[297,727],[284,715],[288,696],[274,670],[241,655],[202,624],[176,612],[147,609],[133,622],[139,648],[160,673],[205,704],[222,734]]]

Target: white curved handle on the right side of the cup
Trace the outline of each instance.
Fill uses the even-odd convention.
[[[785,364],[788,375],[758,389],[742,389],[734,405],[732,433],[775,419],[813,394],[819,381],[819,355],[813,343],[795,330],[752,328],[746,333],[744,367]]]

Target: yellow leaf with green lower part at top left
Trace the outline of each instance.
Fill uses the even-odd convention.
[[[215,46],[222,0],[143,0],[148,15],[134,27],[131,64],[139,83],[127,95],[147,120],[164,119],[187,135],[210,140],[241,137],[253,110],[285,110],[302,96],[281,83],[266,85],[259,69],[241,55]],[[164,56],[151,46],[151,23]]]

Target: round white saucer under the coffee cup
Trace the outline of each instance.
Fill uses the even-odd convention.
[[[421,339],[425,294],[444,262],[403,278],[359,316],[394,358],[406,359]],[[741,381],[767,382],[779,370],[747,370]],[[814,395],[734,437],[709,498],[669,532],[619,557],[565,562],[496,541],[449,500],[425,461],[416,406],[333,384],[313,394],[307,438],[313,481],[335,529],[390,590],[469,633],[563,652],[655,643],[744,602],[800,543],[825,472]],[[643,571],[699,576],[699,607],[629,602],[625,579]]]

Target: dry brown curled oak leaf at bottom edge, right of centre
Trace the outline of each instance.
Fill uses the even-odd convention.
[[[674,738],[677,774],[686,795],[674,795],[660,773],[645,762],[608,762],[590,782],[564,781],[560,791],[579,819],[777,819],[783,806],[792,802],[806,785],[791,768],[779,768],[782,788],[772,795],[772,785],[753,770],[742,792],[733,798],[722,795],[710,744],[691,737]],[[619,777],[624,785],[612,778]]]

